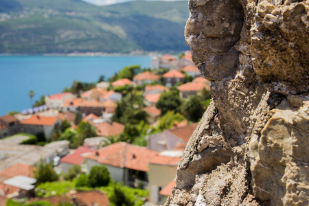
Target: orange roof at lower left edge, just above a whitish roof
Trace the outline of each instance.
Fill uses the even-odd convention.
[[[33,171],[36,168],[32,165],[26,165],[23,163],[18,163],[16,165],[11,166],[10,168],[6,168],[0,172],[1,176],[7,176],[8,178],[12,178],[17,175],[34,177]]]

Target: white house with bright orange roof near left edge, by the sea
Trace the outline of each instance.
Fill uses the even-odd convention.
[[[21,121],[21,130],[24,133],[36,135],[44,133],[48,139],[56,128],[60,128],[61,121],[58,117],[45,117],[40,115],[32,115],[28,119]]]

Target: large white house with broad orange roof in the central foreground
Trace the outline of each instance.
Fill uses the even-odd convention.
[[[93,165],[106,165],[114,181],[124,185],[148,185],[148,164],[158,152],[126,142],[117,142],[87,155],[87,169]]]

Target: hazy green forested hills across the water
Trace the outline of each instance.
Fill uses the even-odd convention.
[[[187,1],[1,0],[0,53],[180,51]]]

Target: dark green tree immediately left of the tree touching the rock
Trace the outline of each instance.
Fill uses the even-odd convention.
[[[168,111],[179,111],[181,106],[181,99],[179,98],[179,92],[171,90],[161,94],[156,107],[161,109],[161,114],[164,115]]]

